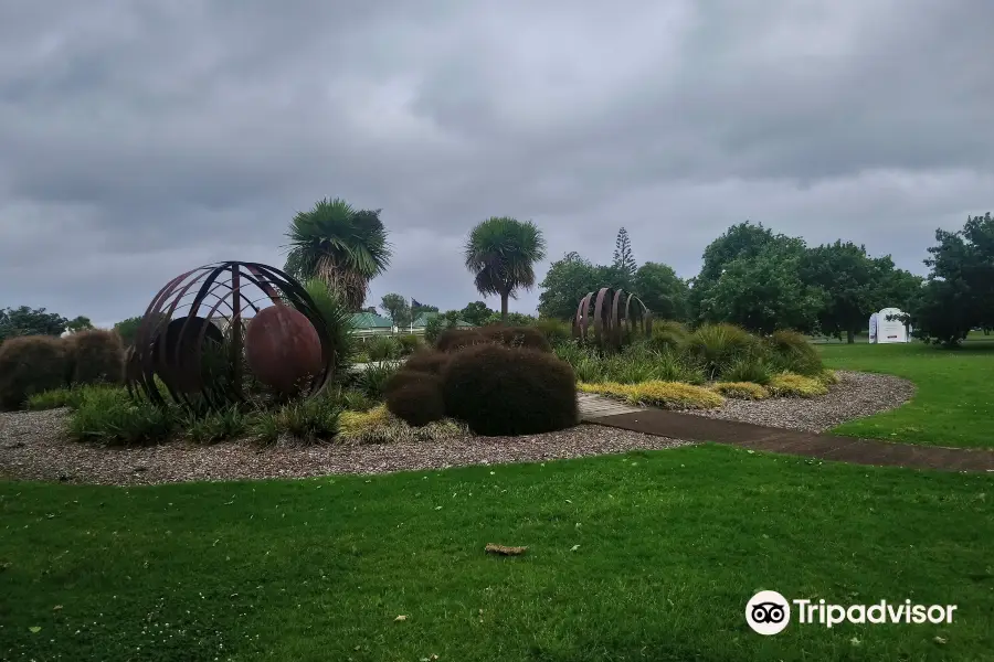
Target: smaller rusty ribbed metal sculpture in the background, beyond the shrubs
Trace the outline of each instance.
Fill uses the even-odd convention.
[[[594,310],[591,318],[590,305]],[[633,307],[634,303],[634,307]],[[618,350],[636,330],[649,335],[653,332],[653,313],[642,299],[622,289],[602,287],[589,292],[580,301],[573,318],[573,338],[581,344],[590,339],[590,322],[593,320],[593,344],[601,350]]]

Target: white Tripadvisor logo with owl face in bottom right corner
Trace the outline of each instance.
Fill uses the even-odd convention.
[[[760,634],[776,634],[791,622],[791,605],[797,622],[832,628],[839,623],[951,623],[955,605],[912,605],[911,600],[874,605],[832,605],[825,600],[787,600],[775,590],[761,590],[745,604],[745,622]]]

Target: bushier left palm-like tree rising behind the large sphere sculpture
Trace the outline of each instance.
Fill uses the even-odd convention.
[[[286,233],[284,270],[299,280],[317,278],[359,310],[369,281],[387,270],[392,254],[380,210],[356,210],[345,200],[319,200],[299,212]]]

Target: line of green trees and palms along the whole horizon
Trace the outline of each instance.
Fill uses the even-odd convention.
[[[359,210],[341,199],[318,201],[289,224],[284,270],[300,280],[322,282],[348,310],[363,310],[370,281],[389,268],[393,254],[380,214],[381,210]],[[898,269],[889,255],[873,257],[852,242],[807,246],[800,237],[747,221],[712,241],[704,250],[699,274],[681,279],[660,261],[638,265],[622,227],[611,264],[595,265],[577,252],[551,264],[538,284],[538,312],[569,320],[588,292],[611,287],[637,295],[656,318],[690,324],[731,322],[757,333],[793,329],[853,342],[874,311],[896,307],[907,311],[906,321],[919,338],[954,345],[971,329],[994,328],[994,220],[990,213],[969,217],[960,231],[937,231],[935,241],[926,260],[930,274],[921,278]],[[424,313],[437,313],[432,316],[434,323],[445,325],[531,321],[509,312],[508,302],[536,286],[535,267],[546,250],[535,223],[487,218],[468,233],[463,261],[480,295],[499,297],[499,311],[475,301],[462,310],[440,312],[395,292],[385,295],[380,308],[401,328]],[[127,341],[138,321],[129,318],[115,328]],[[0,341],[86,325],[86,318],[66,320],[44,309],[0,310]]]

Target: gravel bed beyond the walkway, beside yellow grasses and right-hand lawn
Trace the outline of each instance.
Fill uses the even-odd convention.
[[[893,375],[836,371],[839,383],[828,395],[813,398],[743,401],[728,398],[717,409],[684,412],[770,427],[822,433],[854,418],[863,418],[903,405],[914,395],[914,384]]]

